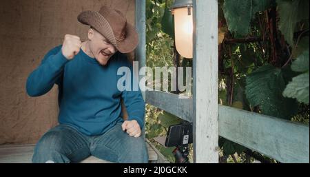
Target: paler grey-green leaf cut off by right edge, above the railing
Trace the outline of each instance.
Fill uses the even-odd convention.
[[[309,72],[294,77],[285,88],[283,96],[309,104]]]

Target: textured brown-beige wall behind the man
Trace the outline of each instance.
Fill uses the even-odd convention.
[[[134,24],[134,0],[1,0],[0,145],[36,143],[56,125],[56,85],[48,94],[30,98],[26,79],[65,34],[85,39],[87,26],[76,17],[102,5],[121,10]]]

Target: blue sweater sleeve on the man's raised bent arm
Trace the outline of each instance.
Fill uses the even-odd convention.
[[[50,91],[54,83],[59,84],[63,68],[68,59],[61,52],[61,45],[53,48],[27,79],[26,90],[29,96],[41,96]]]

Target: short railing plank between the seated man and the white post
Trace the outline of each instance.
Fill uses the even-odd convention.
[[[161,91],[146,91],[146,103],[192,122],[192,98]]]

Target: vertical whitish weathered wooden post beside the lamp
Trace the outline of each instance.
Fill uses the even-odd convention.
[[[194,2],[194,162],[218,163],[218,1]]]

